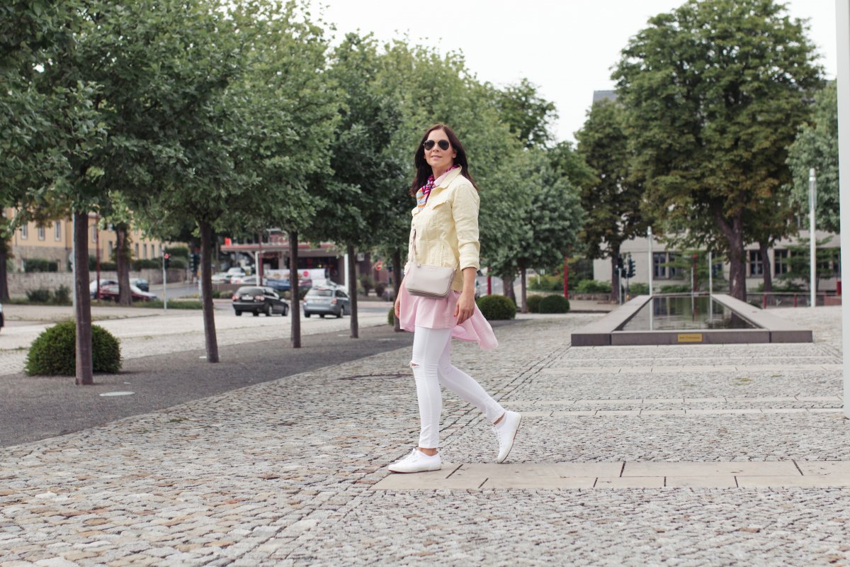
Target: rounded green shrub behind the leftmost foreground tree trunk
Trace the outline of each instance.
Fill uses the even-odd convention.
[[[26,354],[29,376],[74,376],[77,372],[77,323],[62,321],[40,334]],[[95,372],[111,374],[121,370],[121,345],[102,326],[92,326],[92,366]]]

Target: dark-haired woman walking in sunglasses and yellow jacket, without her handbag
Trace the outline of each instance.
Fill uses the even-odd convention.
[[[473,377],[450,362],[451,337],[474,341],[485,350],[498,344],[490,323],[475,304],[480,248],[478,189],[469,174],[466,151],[448,126],[428,128],[413,162],[416,178],[411,196],[416,197],[416,208],[405,274],[409,274],[411,262],[416,262],[453,268],[455,276],[445,298],[413,295],[405,281],[401,282],[395,315],[405,331],[414,333],[411,368],[416,378],[421,432],[419,445],[389,470],[419,473],[442,467],[438,452],[440,384],[476,405],[493,423],[499,442],[496,462],[503,462],[513,446],[521,416],[505,411]]]

